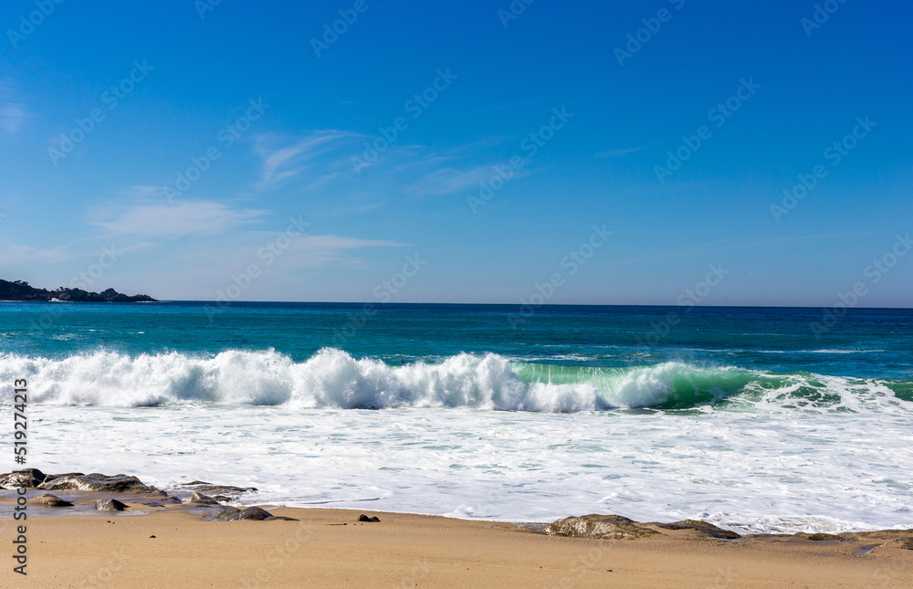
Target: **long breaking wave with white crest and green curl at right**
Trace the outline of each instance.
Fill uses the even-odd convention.
[[[93,352],[63,359],[0,354],[0,383],[9,388],[23,377],[29,381],[29,402],[40,405],[208,403],[572,413],[708,407],[865,411],[908,408],[913,401],[908,381],[887,379],[758,373],[674,362],[586,368],[511,362],[494,353],[391,366],[333,348],[303,363],[274,350],[215,356]]]

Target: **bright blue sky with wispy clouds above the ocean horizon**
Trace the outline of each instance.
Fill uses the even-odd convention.
[[[908,3],[58,2],[0,9],[2,278],[910,306]]]

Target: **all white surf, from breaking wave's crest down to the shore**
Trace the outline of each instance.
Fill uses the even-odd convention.
[[[303,363],[274,351],[0,354],[0,398],[23,377],[29,465],[49,472],[512,521],[603,512],[743,531],[913,526],[913,403],[877,379],[497,354],[390,366],[333,349]]]

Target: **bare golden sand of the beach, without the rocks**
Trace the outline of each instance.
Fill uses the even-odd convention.
[[[22,587],[899,587],[913,531],[842,542],[550,536],[509,523],[356,510],[272,510],[299,521],[204,521],[192,510],[32,517]],[[380,522],[361,523],[365,513]],[[13,521],[4,518],[5,542]],[[153,537],[154,536],[154,537]],[[874,546],[874,548],[871,548]]]

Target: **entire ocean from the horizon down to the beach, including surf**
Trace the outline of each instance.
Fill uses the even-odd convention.
[[[910,528],[911,328],[913,310],[3,302],[0,409],[25,378],[26,466],[249,503]]]

